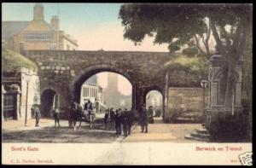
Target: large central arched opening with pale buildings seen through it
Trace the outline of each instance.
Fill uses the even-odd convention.
[[[86,72],[73,85],[75,101],[84,107],[91,101],[96,113],[105,109],[132,107],[132,84],[126,75],[111,69],[97,69]]]

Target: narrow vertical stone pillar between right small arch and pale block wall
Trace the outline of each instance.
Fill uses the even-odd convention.
[[[163,119],[164,122],[168,120],[168,96],[169,96],[169,71],[166,72],[165,77],[165,89],[164,89],[164,96],[163,96]]]

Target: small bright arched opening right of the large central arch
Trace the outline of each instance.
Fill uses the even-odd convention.
[[[154,118],[162,119],[163,116],[163,96],[159,90],[150,90],[146,95],[146,107],[153,108]]]

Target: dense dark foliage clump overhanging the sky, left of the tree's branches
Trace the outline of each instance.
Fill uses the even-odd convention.
[[[140,43],[145,35],[155,35],[154,43],[169,43],[170,51],[176,51],[195,34],[207,32],[205,16],[194,9],[180,4],[128,4],[121,6],[119,17],[125,38]]]

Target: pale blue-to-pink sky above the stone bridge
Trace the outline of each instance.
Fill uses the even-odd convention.
[[[2,3],[3,20],[32,20],[35,3]],[[140,46],[123,38],[119,8],[121,3],[43,3],[44,20],[58,14],[61,30],[78,40],[79,50],[164,51],[167,44],[153,44],[146,37]],[[58,12],[59,11],[59,12]]]

